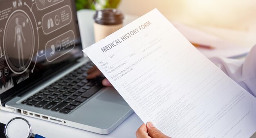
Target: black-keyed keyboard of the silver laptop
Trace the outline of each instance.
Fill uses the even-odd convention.
[[[101,84],[103,77],[86,79],[86,72],[92,66],[93,63],[89,62],[77,68],[40,92],[22,101],[22,104],[68,114],[103,88]]]

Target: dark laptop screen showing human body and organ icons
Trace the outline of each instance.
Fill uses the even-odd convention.
[[[74,0],[0,0],[3,103],[83,56]]]

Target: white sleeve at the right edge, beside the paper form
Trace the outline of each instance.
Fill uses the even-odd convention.
[[[252,48],[245,60],[219,57],[210,60],[256,97],[256,46]]]

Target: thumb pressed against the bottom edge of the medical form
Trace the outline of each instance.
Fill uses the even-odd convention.
[[[170,138],[159,131],[152,122],[147,123],[148,134],[152,138]]]

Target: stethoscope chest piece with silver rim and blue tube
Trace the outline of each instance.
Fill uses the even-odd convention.
[[[29,122],[21,117],[12,118],[4,127],[4,134],[7,138],[45,138],[32,133]]]

